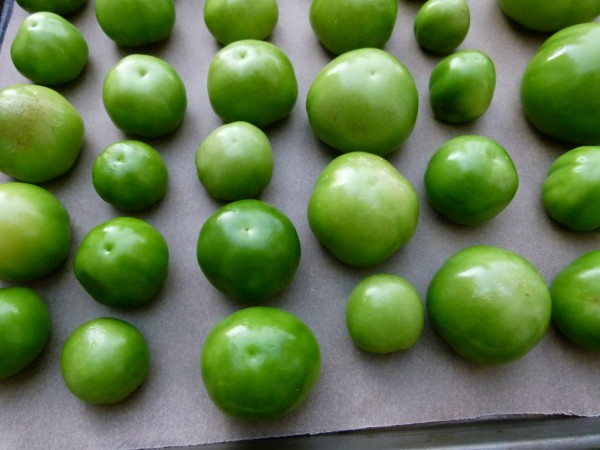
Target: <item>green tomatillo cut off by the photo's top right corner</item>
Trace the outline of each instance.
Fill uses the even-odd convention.
[[[498,0],[504,13],[533,31],[553,32],[600,15],[599,0]]]

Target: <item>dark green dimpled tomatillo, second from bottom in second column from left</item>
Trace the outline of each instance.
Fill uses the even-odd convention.
[[[169,248],[159,231],[133,217],[92,228],[74,261],[75,277],[91,297],[113,308],[148,303],[163,286]]]

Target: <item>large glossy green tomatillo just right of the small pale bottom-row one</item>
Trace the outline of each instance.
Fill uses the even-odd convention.
[[[474,246],[451,256],[427,290],[437,333],[478,364],[515,361],[546,334],[552,302],[533,265],[509,250]]]

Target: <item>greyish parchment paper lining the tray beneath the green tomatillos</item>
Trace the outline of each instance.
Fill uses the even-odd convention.
[[[95,22],[93,2],[71,20],[84,32],[90,60],[80,79],[57,88],[82,113],[86,138],[76,166],[45,183],[67,206],[74,240],[68,260],[55,273],[28,283],[47,301],[53,320],[50,342],[29,369],[0,380],[0,448],[156,448],[240,439],[314,434],[424,422],[528,414],[596,416],[600,413],[597,377],[600,356],[580,350],[551,328],[521,360],[479,366],[454,354],[426,323],[411,349],[369,355],[351,343],[344,324],[348,294],[363,277],[395,273],[411,281],[421,297],[429,280],[455,251],[487,244],[529,259],[550,282],[575,257],[598,248],[597,233],[575,233],[545,214],[540,185],[550,163],[569,145],[535,132],[519,106],[520,75],[546,36],[513,25],[494,0],[469,1],[471,29],[460,49],[479,49],[495,62],[497,87],[488,112],[474,123],[437,122],[428,105],[429,74],[439,57],[417,46],[412,24],[422,2],[400,0],[397,25],[386,50],[412,72],[420,93],[414,132],[388,157],[414,185],[421,210],[413,239],[387,262],[353,269],[336,261],[316,241],[306,220],[314,182],[336,153],[312,134],[304,100],[310,83],[331,59],[308,21],[309,0],[280,0],[280,19],[269,39],[290,57],[299,97],[291,115],[268,127],[275,155],[271,184],[260,196],[294,222],[302,261],[288,289],[269,302],[292,311],[315,332],[323,354],[318,385],[304,405],[274,421],[245,421],[221,414],[202,386],[198,360],[210,328],[241,306],[226,299],[204,278],[195,256],[198,231],[221,203],[198,182],[194,153],[222,122],[206,92],[208,64],[220,46],[202,19],[201,1],[176,0],[177,22],[163,44],[137,50],[170,62],[188,89],[188,111],[174,134],[148,140],[163,155],[170,173],[168,193],[156,207],[136,214],[155,225],[171,251],[167,282],[149,305],[113,310],[95,303],[76,282],[73,256],[93,226],[121,215],[94,192],[91,167],[102,149],[125,136],[108,119],[101,101],[104,75],[131,50],[117,47]],[[17,5],[0,53],[0,86],[28,82],[14,69],[9,46],[26,13]],[[422,177],[433,152],[447,139],[466,133],[488,136],[511,154],[520,187],[509,207],[493,221],[471,228],[453,225],[431,210]],[[0,181],[9,181],[0,175]],[[0,236],[0,238],[2,238]],[[9,285],[0,282],[0,286]],[[100,316],[130,321],[146,336],[151,370],[143,386],[126,401],[91,406],[72,396],[60,374],[60,350],[74,328]]]

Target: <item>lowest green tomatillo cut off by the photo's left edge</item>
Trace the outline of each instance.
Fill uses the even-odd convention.
[[[50,325],[48,308],[33,290],[0,288],[0,379],[36,360],[46,347]]]

